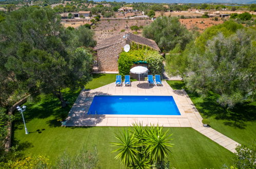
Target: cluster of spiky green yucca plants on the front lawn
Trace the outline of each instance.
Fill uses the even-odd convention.
[[[164,159],[170,153],[169,147],[172,139],[168,131],[163,131],[159,125],[143,127],[142,123],[133,123],[132,128],[123,131],[121,136],[115,137],[119,142],[113,142],[113,146],[119,146],[113,152],[119,152],[115,159],[132,168],[150,168],[157,164],[166,165]]]

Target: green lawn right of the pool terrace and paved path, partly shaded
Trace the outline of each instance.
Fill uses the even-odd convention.
[[[185,89],[183,81],[167,81],[173,89]],[[203,118],[210,120],[210,126],[216,131],[249,147],[256,143],[256,101],[237,105],[232,110],[223,109],[216,103],[217,96],[211,93],[202,98],[187,92],[196,109]]]

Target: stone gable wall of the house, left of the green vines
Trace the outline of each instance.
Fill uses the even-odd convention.
[[[98,71],[118,71],[117,60],[125,44],[124,40],[121,43],[97,50]]]

